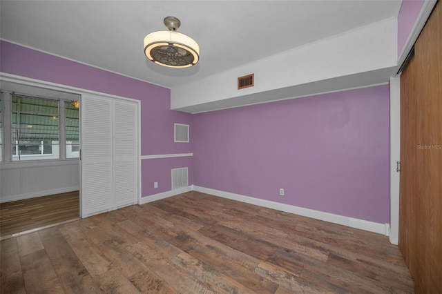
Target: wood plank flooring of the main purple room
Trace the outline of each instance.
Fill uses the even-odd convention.
[[[1,293],[413,293],[387,237],[189,192],[1,242]]]

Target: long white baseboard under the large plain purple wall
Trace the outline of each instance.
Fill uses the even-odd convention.
[[[224,192],[220,190],[214,190],[210,188],[204,188],[200,186],[193,186],[193,190],[201,193],[206,193],[210,195],[215,195],[218,197],[224,197],[227,199],[232,199],[240,202],[245,202],[249,204],[254,204],[258,206],[263,206],[267,208],[272,208],[276,210],[285,211],[286,213],[293,213],[295,215],[302,215],[305,217],[311,217],[314,219],[320,219],[325,222],[332,222],[334,224],[340,224],[343,226],[349,226],[351,228],[358,228],[364,231],[369,231],[373,233],[378,233],[382,235],[388,235],[388,229],[385,228],[385,224],[378,224],[376,222],[369,222],[363,219],[355,219],[353,217],[345,217],[343,215],[335,215],[333,213],[325,213],[319,210],[313,210],[309,208],[302,208],[298,206],[293,206],[289,204],[282,204],[278,202],[271,202],[265,199],[258,199],[254,197],[238,195],[234,193]]]

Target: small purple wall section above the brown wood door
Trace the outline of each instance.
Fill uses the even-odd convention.
[[[424,0],[403,0],[398,14],[398,56],[401,55],[405,41],[414,26]]]

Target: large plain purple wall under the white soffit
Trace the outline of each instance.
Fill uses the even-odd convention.
[[[389,223],[389,95],[376,86],[194,115],[193,182]]]

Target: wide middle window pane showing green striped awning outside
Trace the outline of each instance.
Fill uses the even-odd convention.
[[[12,161],[59,158],[58,101],[12,95]]]

